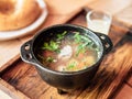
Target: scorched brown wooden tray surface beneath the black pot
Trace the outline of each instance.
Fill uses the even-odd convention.
[[[86,12],[81,11],[67,23],[87,26],[85,16]],[[132,69],[132,33],[113,19],[109,36],[114,44],[113,50],[103,58],[91,84],[73,94],[58,95],[56,88],[41,79],[34,66],[21,58],[1,74],[0,81],[10,84],[25,99],[111,99]]]

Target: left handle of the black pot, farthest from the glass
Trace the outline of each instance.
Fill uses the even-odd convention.
[[[35,61],[32,56],[32,51],[31,51],[31,44],[32,44],[32,41],[28,41],[25,42],[22,46],[21,46],[21,58],[23,62],[25,63],[30,63],[30,64],[35,64]]]

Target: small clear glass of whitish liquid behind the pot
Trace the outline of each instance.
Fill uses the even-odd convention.
[[[89,11],[86,15],[88,29],[108,35],[112,16],[102,11]]]

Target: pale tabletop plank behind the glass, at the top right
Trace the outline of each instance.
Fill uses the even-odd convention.
[[[114,15],[130,4],[132,4],[132,0],[96,0],[95,2],[87,3],[86,7]]]

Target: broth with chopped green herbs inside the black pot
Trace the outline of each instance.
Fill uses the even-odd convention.
[[[77,72],[92,66],[99,51],[87,34],[64,31],[40,46],[37,58],[54,70]]]

